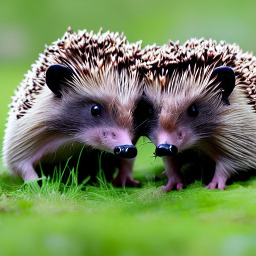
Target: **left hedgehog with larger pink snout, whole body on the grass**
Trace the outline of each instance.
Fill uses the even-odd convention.
[[[141,42],[123,33],[72,32],[45,45],[18,85],[3,140],[4,165],[23,180],[38,178],[35,166],[67,159],[84,146],[111,152],[119,172],[131,176],[138,135],[133,111],[142,95],[136,68]]]

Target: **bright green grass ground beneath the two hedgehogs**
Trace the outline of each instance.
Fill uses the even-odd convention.
[[[225,191],[0,177],[0,255],[255,255],[256,178]]]

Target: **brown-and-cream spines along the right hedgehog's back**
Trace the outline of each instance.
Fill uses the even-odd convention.
[[[228,44],[224,40],[219,43],[216,40],[206,40],[204,38],[191,38],[179,45],[171,40],[161,47],[156,45],[146,45],[141,53],[140,66],[143,67],[148,77],[154,73],[161,73],[162,67],[173,71],[175,68],[187,67],[187,64],[200,66],[230,66],[234,69],[236,86],[247,84],[249,89],[248,98],[256,101],[256,57],[249,52],[242,52],[242,49],[235,43]],[[151,70],[151,71],[149,71]],[[250,94],[249,94],[250,93]],[[256,106],[254,106],[256,108]]]

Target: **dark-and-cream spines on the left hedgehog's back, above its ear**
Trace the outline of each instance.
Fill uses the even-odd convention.
[[[98,72],[103,63],[116,68],[127,67],[135,70],[139,67],[137,59],[140,50],[141,41],[129,43],[123,32],[102,33],[100,28],[97,34],[93,34],[93,30],[88,33],[86,29],[76,33],[68,27],[60,39],[49,46],[45,45],[44,53],[40,53],[38,60],[31,65],[31,71],[27,72],[15,92],[12,109],[20,118],[24,110],[33,104],[35,95],[44,87],[44,73],[52,64],[66,65],[72,70],[79,69],[86,74]],[[25,100],[28,103],[24,103]]]

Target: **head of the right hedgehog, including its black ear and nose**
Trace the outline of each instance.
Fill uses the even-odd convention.
[[[156,145],[156,155],[171,156],[196,146],[209,148],[206,143],[217,132],[221,113],[228,109],[228,96],[235,85],[233,70],[188,67],[146,81],[147,102],[154,109],[147,135]]]

